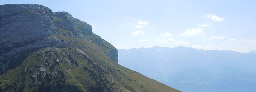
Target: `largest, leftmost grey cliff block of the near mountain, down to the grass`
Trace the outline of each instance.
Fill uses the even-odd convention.
[[[8,4],[1,5],[0,10],[0,62],[3,72],[19,52],[45,46],[67,46],[59,39],[47,38],[58,32],[52,22],[51,9],[43,5]]]

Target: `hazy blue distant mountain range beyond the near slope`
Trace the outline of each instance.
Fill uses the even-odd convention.
[[[256,92],[254,51],[154,46],[119,49],[118,55],[120,65],[183,92]]]

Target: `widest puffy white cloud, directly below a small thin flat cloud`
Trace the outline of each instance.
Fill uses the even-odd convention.
[[[180,36],[203,36],[204,32],[201,28],[187,29],[184,33],[179,34]]]

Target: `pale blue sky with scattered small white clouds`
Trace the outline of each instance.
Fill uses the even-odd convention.
[[[256,49],[255,0],[1,0],[67,11],[118,49]]]

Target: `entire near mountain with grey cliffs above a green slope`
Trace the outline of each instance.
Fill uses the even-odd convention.
[[[117,49],[68,12],[0,5],[1,92],[180,92],[118,64]]]

